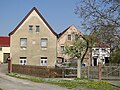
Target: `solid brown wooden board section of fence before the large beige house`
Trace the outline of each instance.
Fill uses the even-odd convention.
[[[47,68],[41,66],[16,65],[12,64],[12,72],[26,74],[43,78],[59,78],[62,77],[62,69]]]

